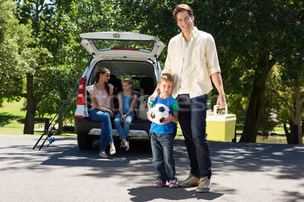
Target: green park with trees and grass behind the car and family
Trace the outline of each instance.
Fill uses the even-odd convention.
[[[239,141],[280,131],[288,143],[303,144],[302,1],[0,0],[0,134],[42,134],[37,128],[57,113],[90,61],[80,33],[131,31],[167,45],[180,32],[172,17],[177,4],[191,6],[195,26],[215,39]],[[162,66],[166,55],[167,46]],[[214,88],[210,109],[216,98]],[[76,105],[74,95],[57,135],[72,134]]]

